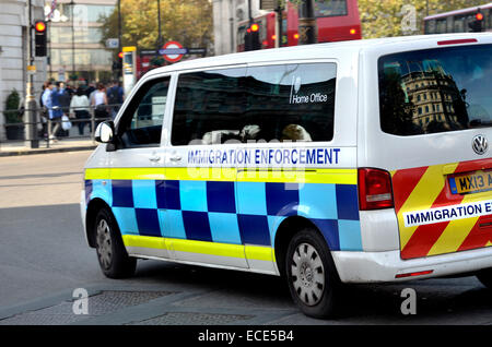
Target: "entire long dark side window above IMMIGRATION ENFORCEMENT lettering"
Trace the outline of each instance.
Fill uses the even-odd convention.
[[[172,144],[331,141],[335,86],[333,63],[181,74]]]

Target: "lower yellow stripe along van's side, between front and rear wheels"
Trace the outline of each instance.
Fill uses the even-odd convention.
[[[219,256],[232,256],[260,261],[274,261],[271,247],[243,246],[219,242],[148,237],[138,235],[122,235],[126,247],[140,247],[159,250],[174,250],[178,252],[199,253]]]

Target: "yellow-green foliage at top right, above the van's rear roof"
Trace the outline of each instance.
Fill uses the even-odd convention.
[[[470,8],[487,3],[484,0],[359,0],[363,38],[376,38],[403,35],[403,5],[413,5],[417,11],[417,31],[423,33],[423,19],[442,12]],[[427,8],[429,4],[429,8]]]

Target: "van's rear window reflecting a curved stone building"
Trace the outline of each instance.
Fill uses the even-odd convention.
[[[384,56],[378,74],[384,132],[419,135],[492,122],[492,45]]]

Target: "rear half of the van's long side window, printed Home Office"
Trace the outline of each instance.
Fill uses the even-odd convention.
[[[246,141],[331,141],[333,63],[254,67],[247,71]]]

